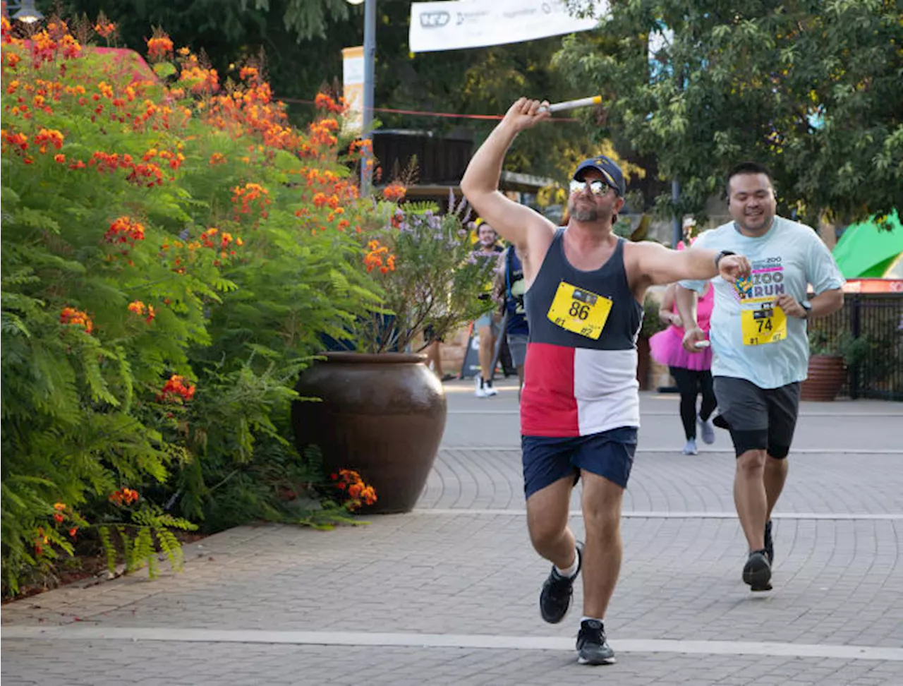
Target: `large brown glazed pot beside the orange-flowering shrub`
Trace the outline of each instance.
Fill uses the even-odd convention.
[[[331,473],[354,469],[377,491],[361,512],[410,512],[433,468],[446,402],[426,355],[327,352],[305,370],[295,390],[321,402],[295,402],[299,450],[320,446]]]

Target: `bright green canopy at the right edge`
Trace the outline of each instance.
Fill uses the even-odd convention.
[[[846,278],[886,277],[903,254],[903,225],[897,211],[888,216],[890,230],[876,221],[851,224],[834,246],[833,256]]]

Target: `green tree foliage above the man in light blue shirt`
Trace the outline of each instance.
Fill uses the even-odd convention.
[[[573,0],[572,5],[585,5]],[[903,203],[903,23],[896,0],[612,0],[557,65],[608,103],[606,127],[683,185],[681,212],[732,164],[768,164],[784,211],[851,221]],[[650,69],[650,33],[673,38]],[[603,49],[600,50],[600,47]],[[669,201],[660,199],[663,204]]]

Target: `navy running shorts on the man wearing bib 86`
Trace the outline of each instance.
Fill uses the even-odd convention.
[[[576,484],[582,469],[627,488],[637,452],[637,428],[612,428],[589,436],[522,436],[520,445],[527,498],[568,475]]]

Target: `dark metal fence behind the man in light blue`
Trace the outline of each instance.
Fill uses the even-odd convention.
[[[903,293],[847,294],[841,310],[809,330],[826,350],[845,355],[843,395],[903,400]]]

